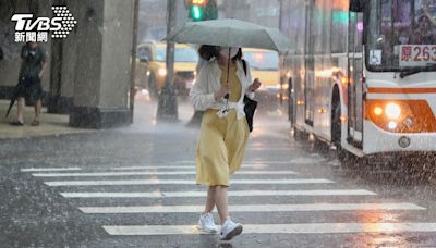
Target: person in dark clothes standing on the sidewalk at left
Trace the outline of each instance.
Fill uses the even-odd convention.
[[[46,52],[37,42],[29,41],[22,47],[21,59],[19,84],[15,88],[17,97],[16,119],[11,122],[11,125],[24,125],[24,102],[25,98],[28,98],[35,102],[35,119],[32,125],[38,126],[43,97],[41,77],[47,67]]]

